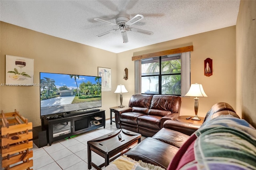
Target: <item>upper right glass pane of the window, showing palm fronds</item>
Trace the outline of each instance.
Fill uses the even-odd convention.
[[[162,56],[161,71],[162,74],[181,73],[181,55],[166,55]]]

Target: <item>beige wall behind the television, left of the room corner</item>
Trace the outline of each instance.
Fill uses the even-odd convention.
[[[109,118],[109,107],[116,106],[116,53],[63,40],[1,22],[0,83],[5,83],[5,55],[34,59],[34,83],[40,83],[39,72],[96,76],[99,67],[111,68],[112,91],[102,92],[102,108]],[[40,123],[39,86],[0,87],[0,109],[14,109],[28,118],[33,127]]]

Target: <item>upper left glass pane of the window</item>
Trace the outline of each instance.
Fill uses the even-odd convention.
[[[141,75],[159,75],[159,57],[142,59]]]

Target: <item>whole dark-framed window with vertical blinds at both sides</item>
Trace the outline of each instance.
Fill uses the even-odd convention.
[[[135,61],[136,94],[184,96],[190,87],[190,52]]]

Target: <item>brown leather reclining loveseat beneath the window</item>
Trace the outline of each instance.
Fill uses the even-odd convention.
[[[153,136],[166,120],[180,115],[181,98],[172,95],[132,95],[128,108],[114,110],[116,127]]]

